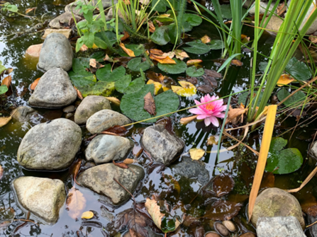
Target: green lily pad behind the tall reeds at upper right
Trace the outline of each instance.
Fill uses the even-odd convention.
[[[300,62],[296,57],[292,57],[285,68],[297,81],[308,81],[311,79],[311,70],[304,62]]]

